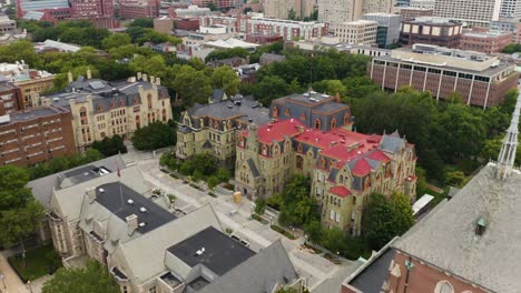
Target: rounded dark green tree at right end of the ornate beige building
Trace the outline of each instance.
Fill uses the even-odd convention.
[[[134,132],[132,144],[137,150],[156,150],[176,144],[176,131],[168,124],[153,122]]]

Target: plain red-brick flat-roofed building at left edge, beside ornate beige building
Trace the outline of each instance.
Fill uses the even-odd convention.
[[[70,121],[70,112],[56,107],[0,112],[0,165],[33,165],[73,154]]]

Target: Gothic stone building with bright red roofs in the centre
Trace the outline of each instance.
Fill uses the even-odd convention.
[[[297,119],[250,124],[238,137],[236,190],[248,198],[282,192],[295,173],[312,178],[322,221],[360,234],[372,192],[404,192],[415,200],[414,145],[399,133],[366,135],[343,128],[306,128]]]

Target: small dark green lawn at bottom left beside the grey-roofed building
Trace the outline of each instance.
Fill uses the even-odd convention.
[[[9,263],[20,275],[23,282],[36,280],[49,274],[51,267],[56,271],[61,266],[61,260],[55,252],[52,244],[43,245],[26,252],[27,267],[23,270],[21,254],[9,257]]]

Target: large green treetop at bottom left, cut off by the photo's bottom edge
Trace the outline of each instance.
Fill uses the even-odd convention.
[[[58,270],[52,279],[43,284],[42,293],[119,293],[119,286],[107,269],[95,260],[85,267]]]

